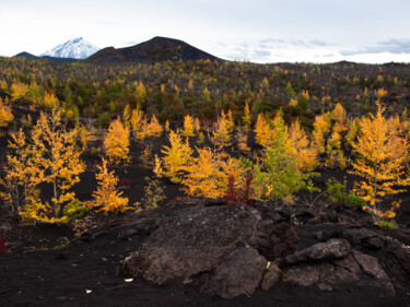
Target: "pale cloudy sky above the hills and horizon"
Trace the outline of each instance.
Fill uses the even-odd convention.
[[[226,60],[410,62],[409,0],[0,0],[0,56],[164,36]]]

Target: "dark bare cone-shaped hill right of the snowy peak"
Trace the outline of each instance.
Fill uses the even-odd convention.
[[[162,62],[162,61],[221,61],[187,43],[166,37],[154,37],[148,42],[126,48],[107,47],[89,57],[98,62]]]

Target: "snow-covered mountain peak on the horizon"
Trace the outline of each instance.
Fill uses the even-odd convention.
[[[77,37],[44,52],[40,57],[48,56],[54,58],[86,59],[98,50],[98,47],[90,44],[82,37]]]

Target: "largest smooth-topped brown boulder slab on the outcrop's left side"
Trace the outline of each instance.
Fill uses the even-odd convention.
[[[238,205],[195,206],[179,211],[161,225],[137,252],[125,259],[122,270],[162,284],[211,271],[254,235],[257,212]]]

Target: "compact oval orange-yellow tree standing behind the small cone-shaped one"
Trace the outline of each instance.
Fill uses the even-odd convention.
[[[104,149],[109,163],[129,162],[129,129],[124,127],[119,118],[109,123],[104,139]]]

